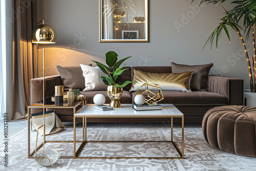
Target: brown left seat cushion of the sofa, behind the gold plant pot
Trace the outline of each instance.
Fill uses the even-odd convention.
[[[106,102],[105,103],[110,103],[110,98],[109,96],[106,94],[106,91],[86,91],[86,92],[81,92],[81,94],[86,97],[86,102],[87,104],[94,104],[93,102],[93,97],[96,94],[103,94],[106,98]],[[123,91],[123,95],[122,97],[119,99],[121,104],[131,104],[132,103],[132,95],[129,91]]]

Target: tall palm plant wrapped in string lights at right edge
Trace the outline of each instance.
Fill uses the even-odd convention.
[[[234,30],[239,38],[241,39],[241,43],[245,52],[245,57],[247,60],[249,79],[250,79],[250,91],[256,92],[256,48],[255,48],[255,25],[256,25],[256,1],[255,0],[240,0],[240,1],[231,1],[230,4],[235,4],[236,6],[231,10],[227,10],[222,3],[227,0],[201,0],[200,5],[202,3],[206,4],[218,4],[225,11],[225,16],[221,18],[221,23],[219,26],[211,33],[209,38],[207,39],[206,44],[210,44],[210,49],[214,42],[214,38],[216,39],[216,46],[218,50],[218,41],[220,39],[220,35],[222,30],[225,31],[229,42],[230,35],[228,31],[228,27]],[[195,0],[191,0],[191,3],[194,3]],[[243,26],[240,26],[239,23],[243,23]],[[243,35],[241,31],[244,32]],[[252,36],[252,44],[253,44],[253,54],[249,56],[246,43],[248,39]],[[203,47],[203,49],[204,49]]]

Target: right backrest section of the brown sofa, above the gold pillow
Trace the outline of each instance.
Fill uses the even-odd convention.
[[[134,76],[134,70],[139,70],[143,72],[150,72],[150,73],[172,73],[172,67],[170,66],[135,66],[132,67],[132,79]]]

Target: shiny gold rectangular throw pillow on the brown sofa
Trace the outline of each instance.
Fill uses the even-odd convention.
[[[134,82],[130,91],[137,91],[144,83],[155,83],[159,84],[162,90],[191,92],[190,80],[192,74],[193,71],[184,73],[158,74],[134,70]]]

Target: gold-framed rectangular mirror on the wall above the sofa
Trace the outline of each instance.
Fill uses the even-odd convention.
[[[148,42],[148,0],[99,0],[99,42]]]

